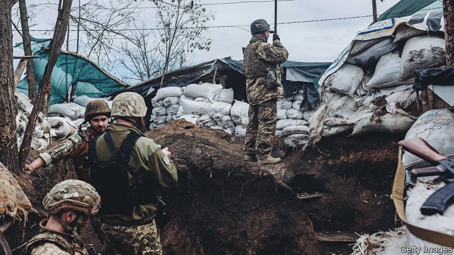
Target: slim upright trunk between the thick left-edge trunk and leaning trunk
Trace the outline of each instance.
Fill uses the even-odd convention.
[[[31,56],[30,46],[30,31],[28,27],[28,14],[27,5],[25,0],[19,0],[19,12],[21,14],[21,27],[22,27],[22,41],[24,42],[24,53],[26,56]],[[34,103],[36,98],[36,81],[35,81],[35,67],[33,66],[33,59],[27,62],[27,81],[28,81],[28,98]]]

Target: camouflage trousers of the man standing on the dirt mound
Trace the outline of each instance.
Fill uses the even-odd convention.
[[[276,132],[276,99],[249,106],[249,122],[246,125],[246,155],[264,159],[271,153],[271,140]]]

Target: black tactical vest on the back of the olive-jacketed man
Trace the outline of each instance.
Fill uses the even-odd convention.
[[[115,159],[108,162],[99,161],[96,156],[96,141],[99,137],[88,146],[90,183],[102,199],[102,206],[97,215],[125,215],[130,214],[134,206],[156,204],[157,195],[149,176],[151,172],[139,177],[139,173],[132,171],[128,166],[134,145],[141,136],[130,132],[117,151],[110,133],[104,133],[104,141],[115,155]],[[128,173],[133,177],[132,185]]]

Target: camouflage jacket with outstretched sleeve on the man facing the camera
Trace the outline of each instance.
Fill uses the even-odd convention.
[[[88,144],[94,138],[95,135],[90,127],[87,130],[80,130],[63,140],[58,146],[39,154],[39,157],[44,160],[46,167],[64,158],[77,158],[83,164],[88,154]]]

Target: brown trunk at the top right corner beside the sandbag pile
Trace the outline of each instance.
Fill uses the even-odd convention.
[[[454,63],[454,0],[443,0],[444,39],[446,40],[446,66]]]

